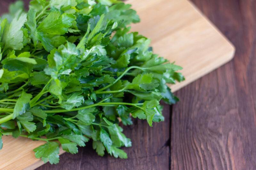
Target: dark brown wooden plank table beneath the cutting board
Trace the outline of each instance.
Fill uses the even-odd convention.
[[[0,13],[11,1],[0,0]],[[256,1],[192,1],[236,46],[235,58],[176,92],[180,102],[164,105],[164,122],[125,127],[133,142],[124,149],[128,159],[100,157],[89,142],[38,170],[255,169]]]

